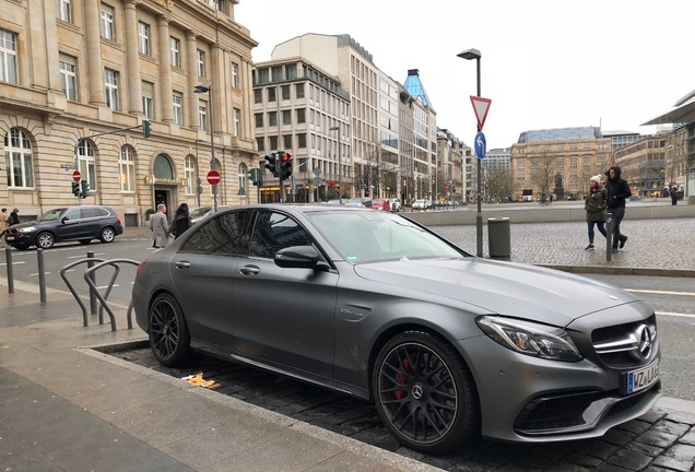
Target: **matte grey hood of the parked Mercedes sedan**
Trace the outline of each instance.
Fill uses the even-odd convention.
[[[474,305],[483,310],[555,326],[638,298],[578,275],[485,259],[432,259],[354,266],[366,280]]]

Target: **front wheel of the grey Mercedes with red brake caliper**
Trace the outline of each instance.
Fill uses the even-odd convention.
[[[480,435],[480,403],[473,376],[439,337],[409,331],[381,347],[373,370],[379,416],[410,449],[438,453]]]

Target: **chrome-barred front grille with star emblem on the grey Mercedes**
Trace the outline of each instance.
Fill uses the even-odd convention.
[[[601,362],[612,368],[634,368],[648,364],[658,350],[657,317],[616,324],[591,333],[593,349]]]

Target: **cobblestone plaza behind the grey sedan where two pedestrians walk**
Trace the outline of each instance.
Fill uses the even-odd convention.
[[[475,253],[475,225],[432,226],[471,253]],[[625,247],[606,262],[605,239],[597,231],[594,250],[585,222],[523,223],[509,226],[511,261],[533,264],[597,266],[640,269],[695,270],[695,219],[629,220],[621,225],[628,236]],[[488,255],[487,226],[483,227],[483,253]]]

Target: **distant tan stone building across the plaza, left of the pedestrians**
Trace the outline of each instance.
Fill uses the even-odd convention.
[[[515,200],[538,200],[543,193],[582,199],[589,179],[612,163],[611,139],[597,127],[525,131],[510,157]]]

